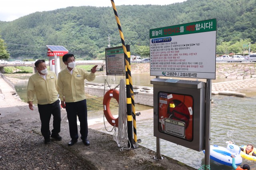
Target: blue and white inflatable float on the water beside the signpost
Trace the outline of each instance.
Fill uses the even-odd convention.
[[[205,152],[203,150],[203,152]],[[242,163],[240,155],[240,148],[235,144],[228,144],[226,148],[218,146],[217,144],[210,145],[210,159],[219,162],[220,164],[232,166],[231,154],[235,156],[236,165]]]

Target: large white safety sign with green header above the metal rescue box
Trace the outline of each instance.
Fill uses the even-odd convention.
[[[150,30],[150,75],[215,79],[216,19]]]

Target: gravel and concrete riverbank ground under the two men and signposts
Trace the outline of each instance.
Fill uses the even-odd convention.
[[[194,170],[168,157],[156,161],[152,159],[156,152],[142,146],[120,152],[112,135],[92,128],[88,133],[90,146],[85,146],[80,138],[76,144],[68,146],[70,136],[66,121],[61,123],[62,140],[51,140],[45,145],[38,108],[31,111],[27,103],[15,99],[13,89],[2,78],[0,89],[0,169]],[[146,111],[142,117],[148,119],[147,114],[153,115]],[[66,117],[65,109],[61,117]],[[52,120],[50,125],[52,127]],[[97,128],[96,124],[94,126]]]

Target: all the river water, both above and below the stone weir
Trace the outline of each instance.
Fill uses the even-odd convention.
[[[148,74],[132,75],[133,85],[152,86],[150,80],[154,76]],[[99,76],[94,83],[104,83],[104,79],[109,84],[118,84],[122,76]],[[201,80],[199,80],[201,81]],[[213,83],[220,81],[230,81],[227,79],[213,80]],[[16,91],[20,98],[26,101],[27,80],[15,84]],[[238,145],[254,144],[256,145],[255,111],[256,97],[234,97],[226,95],[212,95],[212,113],[211,113],[211,142],[226,147],[225,142],[234,141]],[[112,100],[111,100],[112,101]],[[88,119],[102,117],[102,97],[88,98]],[[136,105],[136,111],[151,109],[152,107]],[[118,110],[118,104],[114,103],[112,110]],[[91,113],[91,114],[90,114]],[[113,113],[113,112],[112,112]],[[153,119],[137,121],[137,136],[142,140],[140,145],[156,151],[156,137],[153,135]],[[105,129],[102,132],[107,132]],[[110,132],[110,134],[113,134]],[[204,165],[204,153],[179,146],[172,142],[161,139],[161,154],[174,158],[184,164],[194,168],[200,168]],[[248,164],[252,169],[256,169],[255,161],[243,158],[242,164]],[[210,161],[212,170],[232,170],[232,167]]]

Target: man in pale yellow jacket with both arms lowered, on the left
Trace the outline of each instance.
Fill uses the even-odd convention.
[[[33,109],[33,99],[36,95],[38,112],[41,120],[41,133],[44,136],[44,143],[50,142],[50,135],[56,140],[61,140],[60,132],[60,101],[57,91],[57,77],[54,72],[47,70],[44,60],[35,62],[37,72],[28,80],[27,97],[28,107]],[[50,119],[53,115],[53,129],[50,132]]]

